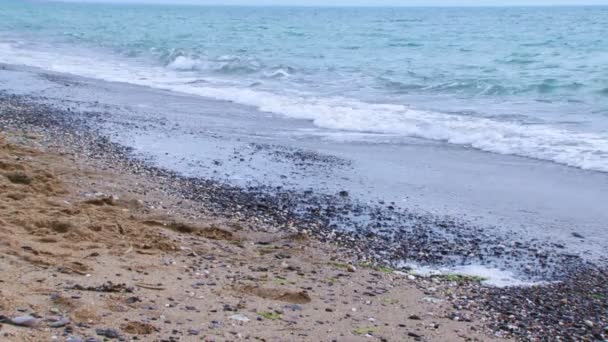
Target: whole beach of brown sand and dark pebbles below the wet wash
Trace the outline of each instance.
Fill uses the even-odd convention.
[[[383,234],[331,224],[335,216],[323,205],[340,208],[348,193],[315,198],[321,210],[300,215],[290,203],[315,203],[302,194],[269,196],[130,157],[131,148],[99,134],[91,110],[6,92],[0,103],[1,332],[9,340],[592,340],[605,334],[606,271],[577,256],[526,254],[547,265],[530,273],[559,270],[559,282],[540,286],[493,287],[456,273],[423,277],[388,260]],[[405,241],[429,252],[412,257],[420,261],[443,260],[438,246],[451,248],[416,235]],[[524,249],[483,243],[515,256]],[[33,326],[18,326],[17,318]]]

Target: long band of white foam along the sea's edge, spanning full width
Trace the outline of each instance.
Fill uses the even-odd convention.
[[[199,79],[180,71],[200,70],[201,61],[183,56],[165,68],[106,56],[95,59],[90,54],[64,54],[52,48],[23,50],[10,42],[0,43],[0,50],[0,61],[5,63],[233,101],[290,118],[311,120],[322,128],[445,141],[488,152],[608,172],[606,134],[422,111],[402,104],[376,104],[352,98],[290,93],[285,89],[280,90],[281,93],[279,90],[254,90],[228,80],[206,78],[205,83],[194,82]]]

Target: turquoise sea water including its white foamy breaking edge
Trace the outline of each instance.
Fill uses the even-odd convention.
[[[608,172],[608,7],[3,0],[0,62]]]

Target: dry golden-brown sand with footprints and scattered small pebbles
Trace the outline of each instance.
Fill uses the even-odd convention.
[[[492,339],[447,318],[456,284],[201,217],[142,176],[58,151],[0,135],[2,341]],[[28,315],[33,326],[8,323]]]

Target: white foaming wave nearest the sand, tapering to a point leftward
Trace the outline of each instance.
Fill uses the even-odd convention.
[[[421,111],[405,105],[370,104],[347,98],[290,97],[239,88],[176,87],[174,90],[310,120],[323,128],[399,134],[608,172],[608,139],[593,133]]]

